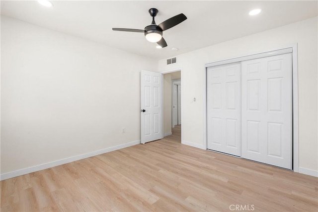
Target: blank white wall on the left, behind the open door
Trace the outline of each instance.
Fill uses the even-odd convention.
[[[140,70],[157,68],[1,16],[1,174],[140,140]]]

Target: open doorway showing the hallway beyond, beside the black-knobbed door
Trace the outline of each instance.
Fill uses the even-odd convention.
[[[181,88],[180,70],[163,74],[163,136],[178,143],[182,126]]]

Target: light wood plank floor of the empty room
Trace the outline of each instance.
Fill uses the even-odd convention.
[[[231,211],[235,205],[317,212],[318,178],[182,145],[176,127],[162,140],[1,181],[2,212]]]

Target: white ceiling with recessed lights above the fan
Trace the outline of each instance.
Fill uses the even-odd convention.
[[[248,34],[317,16],[318,1],[65,1],[54,7],[36,0],[1,0],[1,15],[72,34],[135,54],[163,59]],[[144,29],[148,10],[159,9],[156,23],[184,13],[188,19],[163,32],[168,46],[156,49],[143,33],[112,31],[112,27]],[[249,10],[261,8],[256,16]],[[172,51],[171,48],[178,48]]]

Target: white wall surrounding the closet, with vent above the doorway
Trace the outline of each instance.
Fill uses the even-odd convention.
[[[178,55],[178,63],[175,65],[167,66],[166,60],[160,60],[160,71],[182,68],[182,142],[204,147],[202,110],[205,64],[298,43],[299,166],[304,172],[317,174],[317,24],[317,17],[314,17],[209,46]],[[196,102],[191,101],[194,97]]]

